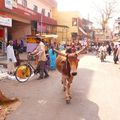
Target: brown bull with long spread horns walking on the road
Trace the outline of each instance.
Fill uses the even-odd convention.
[[[87,48],[84,47],[78,53],[61,53],[57,50],[54,50],[58,53],[56,58],[56,68],[62,74],[62,84],[63,89],[65,92],[65,100],[66,103],[69,104],[70,100],[72,99],[70,93],[70,86],[73,81],[73,77],[77,75],[77,68],[78,68],[78,56]]]

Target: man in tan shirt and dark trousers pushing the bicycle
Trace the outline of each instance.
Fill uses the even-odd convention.
[[[43,79],[49,76],[45,67],[46,60],[47,60],[46,54],[45,54],[45,45],[40,38],[36,38],[36,39],[39,41],[39,44],[36,47],[36,49],[31,53],[35,56],[38,56],[38,64],[34,72],[40,74],[38,79]],[[45,73],[45,76],[44,76],[44,73]]]

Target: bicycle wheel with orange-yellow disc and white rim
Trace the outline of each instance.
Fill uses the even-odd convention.
[[[21,83],[26,82],[32,74],[31,71],[32,70],[29,66],[20,65],[15,71],[15,77],[16,77],[17,81],[19,81]]]

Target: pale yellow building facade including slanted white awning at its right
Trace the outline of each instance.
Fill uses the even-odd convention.
[[[60,41],[71,42],[76,40],[78,36],[86,36],[87,33],[83,30],[80,13],[77,11],[59,11],[57,14],[57,23],[63,27],[57,29],[60,36]]]

